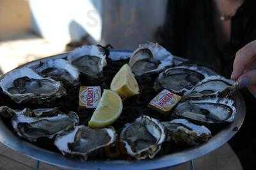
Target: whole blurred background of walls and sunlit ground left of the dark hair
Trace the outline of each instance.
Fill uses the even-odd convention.
[[[167,0],[0,0],[0,73],[86,44],[156,41]],[[147,8],[145,8],[147,6]]]

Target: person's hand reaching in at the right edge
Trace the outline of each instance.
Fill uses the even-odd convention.
[[[256,40],[236,53],[231,79],[238,82],[240,89],[248,87],[256,97]]]

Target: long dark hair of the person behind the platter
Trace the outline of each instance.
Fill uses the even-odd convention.
[[[159,43],[173,55],[186,57],[221,73],[211,0],[169,0]]]

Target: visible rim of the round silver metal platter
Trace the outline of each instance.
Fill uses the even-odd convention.
[[[127,59],[131,55],[129,51],[120,51],[113,50],[110,53],[110,57],[113,60],[118,59]],[[49,58],[65,58],[67,57],[67,53],[62,53],[60,55],[54,55],[51,57],[47,57],[41,60],[47,60]],[[184,61],[184,59],[180,57],[175,57],[175,62],[179,63]],[[28,64],[24,64],[24,66],[35,64],[39,62],[39,60],[29,62]],[[209,69],[209,71],[211,71]],[[213,71],[211,71],[213,72]],[[3,75],[4,76],[4,75]],[[39,148],[31,143],[20,139],[14,132],[10,131],[6,125],[3,124],[0,118],[0,142],[4,145],[12,148],[16,152],[23,153],[28,157],[31,157],[36,160],[40,160],[47,164],[51,164],[53,166],[62,167],[65,169],[160,169],[163,167],[171,167],[182,164],[192,159],[196,159],[198,157],[202,157],[212,150],[216,150],[224,143],[232,138],[236,134],[237,131],[235,129],[240,129],[243,124],[245,117],[245,104],[244,99],[239,92],[235,94],[235,103],[237,114],[234,118],[234,122],[232,124],[226,126],[222,131],[213,136],[207,143],[204,143],[199,146],[195,146],[193,148],[189,148],[187,150],[182,150],[180,152],[171,153],[169,155],[164,155],[161,157],[156,157],[154,159],[147,160],[139,160],[139,161],[128,161],[128,160],[87,160],[82,161],[78,159],[70,159],[68,157],[64,157],[61,153],[51,152],[49,150],[45,150],[43,148]]]

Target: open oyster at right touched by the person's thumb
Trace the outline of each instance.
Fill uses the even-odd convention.
[[[231,88],[234,86],[234,88]],[[222,76],[209,76],[204,80],[198,82],[195,87],[184,93],[184,96],[189,97],[202,97],[207,95],[214,95],[218,92],[224,92],[230,89],[236,89],[236,82],[223,78]]]

